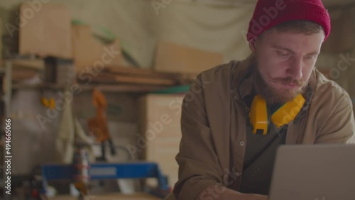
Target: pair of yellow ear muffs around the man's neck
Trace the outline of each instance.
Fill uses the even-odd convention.
[[[270,115],[265,99],[259,95],[254,96],[249,111],[249,121],[253,126],[252,133],[266,135],[269,130],[270,121],[277,128],[285,126],[295,119],[304,104],[305,98],[303,98],[302,94],[298,94],[293,101],[283,104],[283,106]]]

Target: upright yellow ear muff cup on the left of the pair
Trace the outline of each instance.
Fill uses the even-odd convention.
[[[252,132],[254,134],[266,135],[268,133],[268,116],[268,108],[265,99],[259,95],[254,96],[249,111],[249,121],[253,126]]]

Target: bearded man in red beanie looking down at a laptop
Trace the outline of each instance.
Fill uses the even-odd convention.
[[[351,99],[315,68],[329,33],[320,0],[257,2],[251,55],[200,73],[182,103],[176,199],[267,199],[279,145],[350,143]]]

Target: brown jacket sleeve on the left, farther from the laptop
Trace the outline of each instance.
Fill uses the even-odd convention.
[[[175,197],[182,200],[197,199],[203,189],[222,182],[222,170],[204,106],[205,86],[200,79],[201,75],[192,82],[182,101],[182,139],[175,157],[179,165],[179,179],[173,191]]]

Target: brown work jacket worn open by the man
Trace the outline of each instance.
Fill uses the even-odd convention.
[[[182,103],[176,199],[201,199],[200,192],[211,184],[219,186],[217,191],[238,191],[248,143],[248,108],[242,99],[251,94],[252,79],[246,77],[254,62],[250,56],[219,65],[190,85]],[[286,145],[354,141],[352,103],[342,87],[315,69],[303,96],[306,104],[288,124]]]

